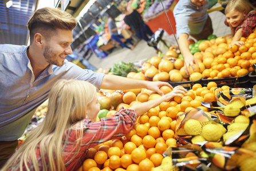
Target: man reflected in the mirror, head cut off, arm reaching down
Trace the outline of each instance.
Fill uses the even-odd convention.
[[[188,37],[191,35],[196,40],[207,39],[213,32],[211,18],[207,14],[208,7],[208,0],[180,0],[174,8],[176,35],[187,73],[190,66],[195,71],[194,64],[198,65],[188,48]]]

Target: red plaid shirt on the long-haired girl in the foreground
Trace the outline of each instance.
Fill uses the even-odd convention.
[[[131,109],[120,109],[114,117],[105,117],[94,123],[92,120],[84,119],[84,136],[82,137],[80,149],[78,149],[78,147],[74,148],[77,140],[77,124],[74,124],[71,128],[67,129],[63,136],[62,146],[62,156],[64,158],[66,170],[77,170],[80,168],[89,148],[125,135],[130,131],[133,124],[136,122],[136,119],[137,113]],[[36,156],[39,169],[42,170],[39,144]],[[48,162],[47,156],[45,156],[45,158],[46,162]],[[7,170],[19,170],[17,169],[18,165],[19,160]],[[30,170],[34,170],[34,166],[31,162],[28,162],[27,165]],[[26,170],[24,165],[23,170]]]

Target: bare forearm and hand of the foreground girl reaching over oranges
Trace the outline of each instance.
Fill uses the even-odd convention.
[[[129,109],[135,110],[138,114],[138,116],[143,115],[145,112],[147,112],[150,108],[156,107],[163,101],[170,101],[172,100],[175,96],[183,97],[183,95],[186,95],[186,89],[183,88],[182,86],[177,86],[170,93],[167,93],[164,96],[161,96],[155,100],[149,100],[144,103],[136,104],[130,107]]]

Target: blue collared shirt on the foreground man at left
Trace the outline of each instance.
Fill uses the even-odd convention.
[[[0,44],[0,141],[13,141],[22,136],[57,80],[86,80],[99,88],[105,75],[83,70],[65,60],[61,67],[49,65],[34,80],[26,50],[27,46]]]

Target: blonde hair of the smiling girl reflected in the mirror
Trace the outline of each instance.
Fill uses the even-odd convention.
[[[248,14],[251,10],[254,10],[254,6],[247,0],[230,0],[225,8],[225,14],[230,13],[232,10],[237,10],[241,13]],[[234,35],[234,28],[230,25],[231,32]]]

